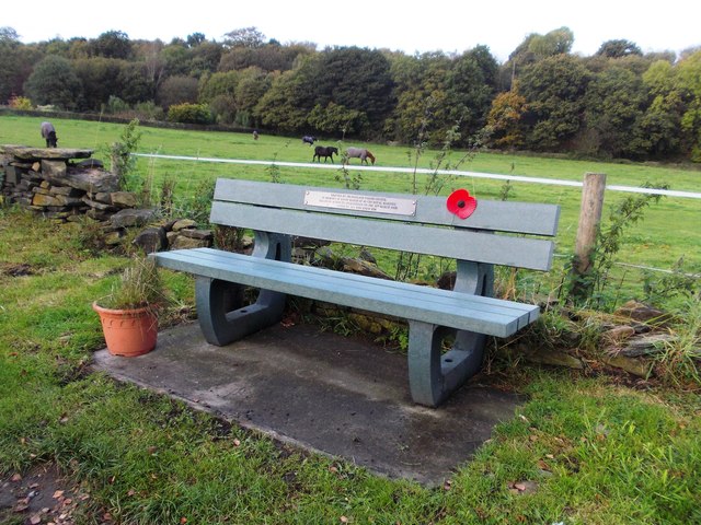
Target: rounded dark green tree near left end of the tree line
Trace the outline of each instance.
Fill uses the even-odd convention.
[[[35,104],[74,109],[82,86],[68,59],[49,55],[36,65],[24,83],[24,91]]]

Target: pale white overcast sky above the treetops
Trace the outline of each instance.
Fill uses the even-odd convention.
[[[0,26],[14,28],[25,44],[95,38],[106,31],[164,43],[203,33],[222,42],[226,33],[254,26],[266,39],[311,42],[320,50],[359,46],[460,54],[484,45],[505,61],[529,34],[562,26],[574,33],[572,51],[583,56],[611,39],[630,40],[643,52],[679,52],[701,46],[700,21],[698,0],[33,0],[31,11],[3,10]]]

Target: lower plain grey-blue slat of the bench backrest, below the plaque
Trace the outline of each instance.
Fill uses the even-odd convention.
[[[336,214],[325,214],[320,220],[317,213],[231,202],[214,202],[211,222],[533,270],[550,269],[553,255],[553,242],[542,238]]]

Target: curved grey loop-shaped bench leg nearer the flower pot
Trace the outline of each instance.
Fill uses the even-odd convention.
[[[290,259],[290,241],[286,235],[257,234],[253,256],[277,260]],[[223,346],[278,323],[285,311],[284,293],[261,290],[253,304],[244,305],[240,284],[197,277],[195,299],[197,317],[205,339]]]

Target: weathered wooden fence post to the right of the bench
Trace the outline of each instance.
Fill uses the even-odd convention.
[[[575,299],[587,299],[591,292],[591,282],[587,279],[594,265],[594,248],[601,222],[604,209],[604,191],[606,189],[605,173],[585,173],[582,188],[582,208],[572,261],[573,287]]]

